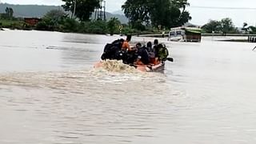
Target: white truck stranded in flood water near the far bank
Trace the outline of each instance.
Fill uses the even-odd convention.
[[[196,27],[175,27],[170,29],[168,41],[201,42],[201,33]]]

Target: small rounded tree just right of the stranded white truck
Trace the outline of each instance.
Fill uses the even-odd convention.
[[[221,27],[222,27],[221,22],[210,20],[210,22],[202,26],[202,29],[205,30],[206,33],[212,33],[213,31],[215,33],[219,33],[219,31],[221,30]]]

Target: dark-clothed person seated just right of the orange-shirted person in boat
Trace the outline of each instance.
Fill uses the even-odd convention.
[[[141,43],[137,43],[136,46],[137,58],[134,62],[135,65],[148,65],[150,64],[150,56],[146,50],[146,46],[142,46]]]

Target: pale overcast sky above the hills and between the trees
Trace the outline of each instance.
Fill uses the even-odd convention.
[[[0,2],[54,6],[63,4],[61,0],[0,0]],[[126,0],[106,0],[106,11],[114,12],[121,10],[124,2]],[[187,10],[190,12],[192,17],[190,22],[193,24],[203,25],[209,22],[210,19],[221,20],[222,18],[231,18],[234,25],[238,27],[241,27],[243,22],[247,22],[250,26],[256,26],[255,0],[188,0],[188,2],[190,2],[190,6],[187,7]],[[223,9],[216,9],[216,7],[222,7]]]

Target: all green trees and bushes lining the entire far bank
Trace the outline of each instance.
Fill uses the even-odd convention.
[[[161,34],[171,27],[182,26],[191,17],[186,11],[187,0],[126,0],[122,5],[130,22],[122,24],[118,18],[92,19],[95,9],[101,9],[100,0],[62,0],[62,9],[50,10],[36,26],[30,26],[23,18],[14,18],[11,7],[0,14],[0,28],[18,30],[54,30],[86,34]],[[234,26],[230,18],[221,21],[210,20],[202,26],[202,33],[214,34],[256,34],[255,26],[243,24],[242,30]]]

